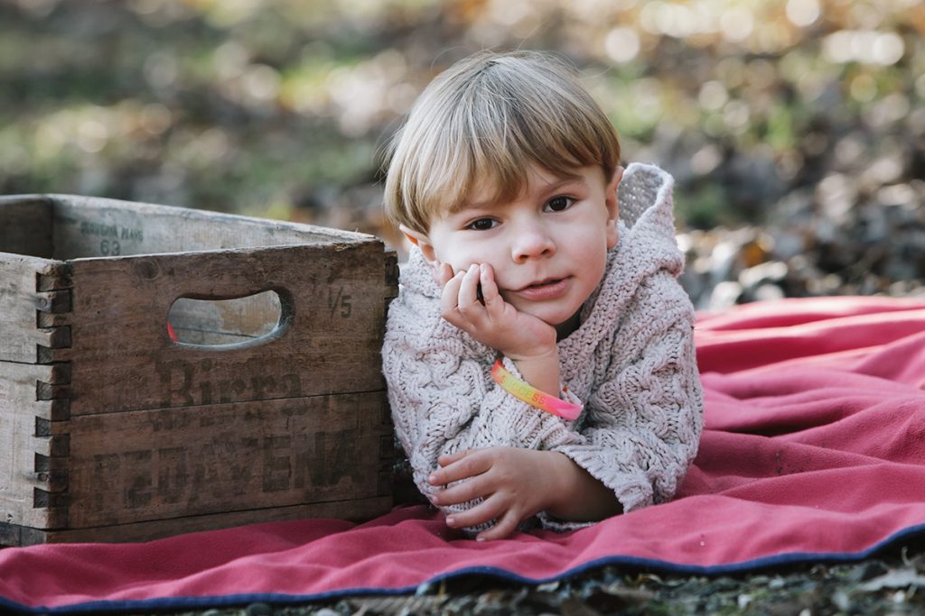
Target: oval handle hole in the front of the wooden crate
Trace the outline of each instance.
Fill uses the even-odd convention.
[[[286,329],[291,304],[277,291],[228,298],[179,297],[167,312],[167,335],[178,344],[235,348],[262,344]]]

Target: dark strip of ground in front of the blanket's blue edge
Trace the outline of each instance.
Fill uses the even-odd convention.
[[[176,616],[921,614],[925,613],[925,556],[920,545],[908,544],[858,562],[802,562],[720,576],[603,567],[539,586],[466,576],[420,586],[412,596],[346,597],[304,605],[253,603],[170,613]]]

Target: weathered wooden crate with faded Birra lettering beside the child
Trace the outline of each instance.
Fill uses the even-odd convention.
[[[387,512],[397,274],[363,234],[0,198],[0,544]]]

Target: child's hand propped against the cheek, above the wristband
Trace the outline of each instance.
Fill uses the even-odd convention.
[[[438,263],[434,279],[443,286],[444,319],[514,361],[554,356],[558,365],[555,328],[504,301],[490,265],[453,275],[449,264]]]

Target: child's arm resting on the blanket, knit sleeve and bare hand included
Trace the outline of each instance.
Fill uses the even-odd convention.
[[[588,401],[585,442],[551,451],[490,448],[441,456],[430,483],[450,487],[436,492],[434,503],[481,501],[450,516],[448,524],[497,519],[478,537],[500,538],[536,513],[545,524],[565,529],[671,498],[702,429],[690,339],[683,318],[652,338],[639,338],[642,350],[633,364],[615,369]]]

